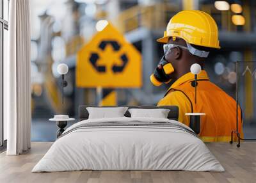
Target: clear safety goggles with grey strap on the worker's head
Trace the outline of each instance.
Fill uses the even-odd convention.
[[[186,49],[188,50],[191,54],[195,55],[195,56],[199,56],[199,57],[204,57],[207,58],[207,56],[209,55],[209,51],[202,51],[202,50],[198,50],[195,47],[193,47],[191,44],[189,44],[188,42],[186,43],[187,47],[184,47],[182,45],[176,45],[176,44],[164,44],[163,48],[164,48],[164,55],[168,55],[170,54],[170,52],[172,52],[172,49],[174,47],[180,47],[182,49]]]

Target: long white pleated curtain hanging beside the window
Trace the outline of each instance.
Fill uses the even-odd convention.
[[[30,10],[29,0],[10,1],[8,61],[4,63],[4,120],[8,155],[30,148]]]

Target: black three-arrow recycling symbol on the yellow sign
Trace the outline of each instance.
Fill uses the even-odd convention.
[[[116,42],[115,40],[102,40],[102,42],[100,42],[100,44],[98,45],[98,48],[104,52],[106,50],[107,45],[110,45],[114,52],[120,51],[121,45],[118,44],[118,42]],[[113,65],[111,65],[111,70],[114,73],[122,72],[125,68],[125,65],[127,65],[128,63],[128,58],[125,53],[121,54],[121,56],[119,56],[119,59],[120,61],[122,61],[121,65],[117,65],[116,63],[113,63]],[[100,56],[97,52],[92,52],[90,54],[89,60],[93,68],[95,68],[95,70],[97,70],[98,72],[106,72],[106,65],[98,64]]]

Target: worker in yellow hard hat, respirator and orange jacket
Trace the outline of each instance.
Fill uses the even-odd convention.
[[[218,27],[212,17],[199,10],[177,13],[170,19],[163,38],[164,56],[150,76],[156,86],[174,81],[157,106],[178,106],[179,122],[189,125],[185,113],[201,116],[200,138],[203,141],[230,141],[236,130],[236,101],[209,81],[204,70],[205,58],[212,49],[220,49]],[[197,76],[190,72],[194,63],[202,67]],[[197,90],[195,104],[195,85]],[[239,116],[241,109],[238,109]],[[241,132],[241,118],[238,119]]]

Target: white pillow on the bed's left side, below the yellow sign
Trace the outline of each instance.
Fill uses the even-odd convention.
[[[86,107],[89,119],[125,117],[128,107]]]

